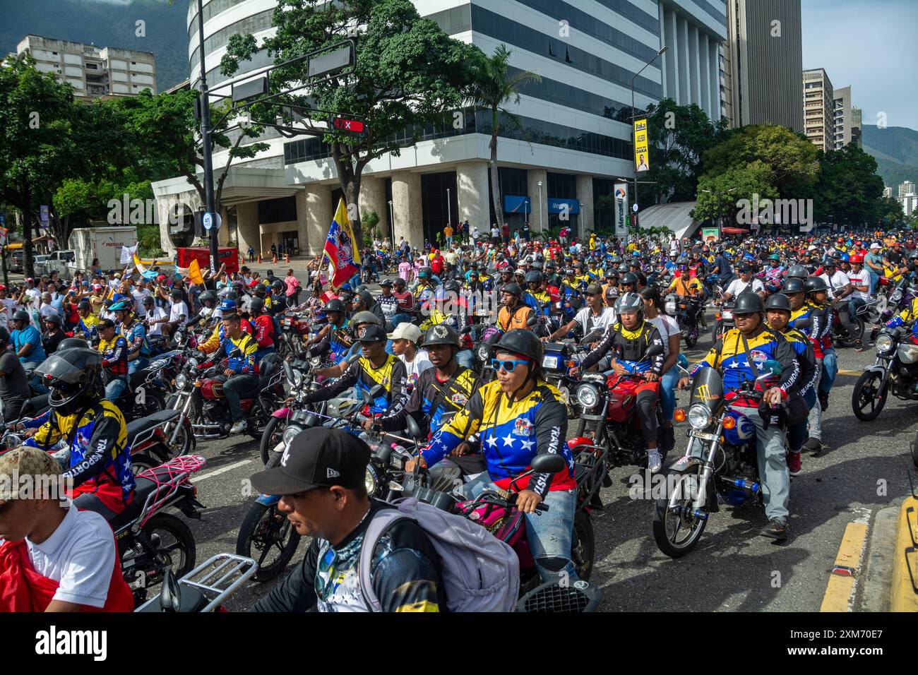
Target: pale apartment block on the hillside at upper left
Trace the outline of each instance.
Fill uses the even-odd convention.
[[[150,51],[27,35],[17,45],[17,54],[24,53],[35,59],[42,73],[54,73],[73,85],[79,98],[134,96],[144,89],[156,94],[156,60]]]

